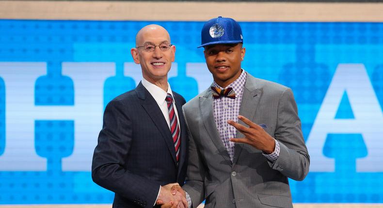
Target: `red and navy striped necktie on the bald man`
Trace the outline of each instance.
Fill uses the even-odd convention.
[[[179,146],[181,144],[181,140],[180,140],[180,134],[179,134],[177,115],[176,115],[176,111],[174,110],[174,107],[173,107],[172,95],[168,93],[166,95],[165,101],[168,104],[169,118],[170,118],[170,132],[172,133],[174,147],[176,149],[176,159],[178,162]]]

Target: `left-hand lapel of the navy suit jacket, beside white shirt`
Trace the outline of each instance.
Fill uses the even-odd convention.
[[[150,119],[152,119],[153,123],[156,125],[157,129],[160,131],[162,138],[164,139],[169,149],[169,152],[172,155],[174,163],[177,163],[176,149],[174,148],[172,134],[170,133],[169,126],[165,118],[163,118],[163,114],[160,107],[158,106],[154,98],[150,95],[150,93],[141,84],[141,82],[137,86],[136,92],[137,92],[137,96],[143,100],[142,106],[144,107],[148,116],[150,117]]]

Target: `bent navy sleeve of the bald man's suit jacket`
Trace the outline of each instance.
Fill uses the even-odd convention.
[[[113,100],[105,108],[103,128],[93,155],[92,179],[139,206],[152,207],[160,183],[132,174],[125,168],[132,139],[128,111],[121,101]]]

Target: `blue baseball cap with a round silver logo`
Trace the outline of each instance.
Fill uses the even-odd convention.
[[[237,21],[219,16],[204,24],[201,31],[201,45],[243,43],[242,30]]]

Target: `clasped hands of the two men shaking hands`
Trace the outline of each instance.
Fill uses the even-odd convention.
[[[186,193],[178,183],[161,186],[156,202],[161,208],[188,208]]]

